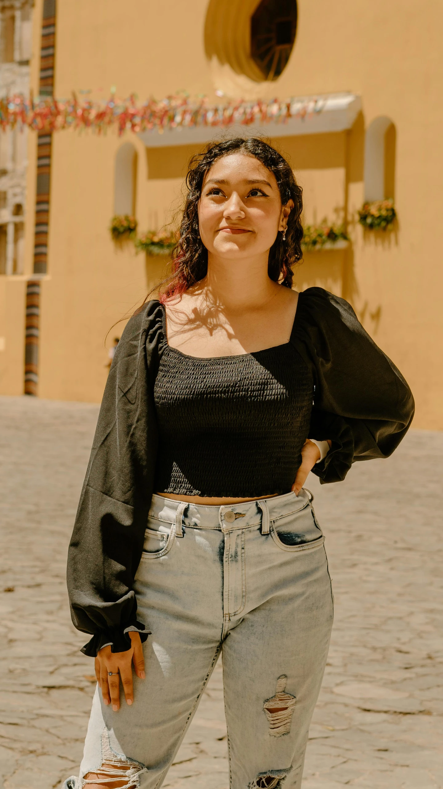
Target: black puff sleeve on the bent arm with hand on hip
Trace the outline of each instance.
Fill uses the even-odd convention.
[[[312,469],[320,481],[344,480],[352,462],[392,454],[411,424],[414,398],[348,301],[322,288],[303,291],[291,341],[315,380],[309,436],[333,442]]]

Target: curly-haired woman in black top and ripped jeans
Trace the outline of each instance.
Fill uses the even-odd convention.
[[[408,384],[351,306],[292,290],[285,159],[227,140],[187,185],[173,275],[115,353],[69,548],[98,688],[65,787],[158,787],[219,653],[230,786],[301,786],[333,619],[303,483],[386,457],[411,424]]]

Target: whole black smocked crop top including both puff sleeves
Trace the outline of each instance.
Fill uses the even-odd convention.
[[[351,305],[322,288],[300,294],[287,346],[215,363],[168,349],[164,308],[148,302],[110,368],[69,546],[73,623],[93,635],[84,652],[129,649],[129,630],[147,638],[133,585],[155,490],[244,498],[288,490],[306,438],[332,440],[312,470],[322,482],[344,480],[352,462],[391,454],[413,413],[396,366]]]

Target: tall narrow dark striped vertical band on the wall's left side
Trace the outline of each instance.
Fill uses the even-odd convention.
[[[54,92],[55,2],[43,0],[39,94]],[[47,240],[50,207],[50,160],[52,134],[37,138],[37,189],[35,196],[34,274],[47,273]],[[26,332],[24,344],[24,394],[37,394],[39,384],[40,283],[28,282],[26,289]]]

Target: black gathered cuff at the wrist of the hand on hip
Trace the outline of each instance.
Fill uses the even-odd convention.
[[[326,458],[311,469],[320,477],[320,483],[342,482],[354,459],[354,436],[348,422],[335,413],[313,411],[308,438],[332,441]]]

